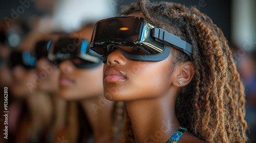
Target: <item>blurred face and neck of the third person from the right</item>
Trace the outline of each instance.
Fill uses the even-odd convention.
[[[38,85],[38,90],[49,95],[52,104],[51,124],[49,124],[46,135],[53,141],[55,133],[63,128],[66,118],[66,101],[59,97],[59,69],[52,65],[47,59],[48,49],[51,41],[55,41],[64,33],[44,34],[35,44],[36,53],[36,73],[42,79]]]

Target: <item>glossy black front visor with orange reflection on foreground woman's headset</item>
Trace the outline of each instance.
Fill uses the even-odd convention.
[[[100,49],[109,44],[117,45],[124,51],[134,54],[158,54],[164,44],[151,37],[155,25],[141,17],[121,16],[103,19],[95,24],[91,41],[91,49],[102,56],[108,49]],[[129,45],[129,46],[127,46]],[[144,51],[141,53],[141,51]]]

